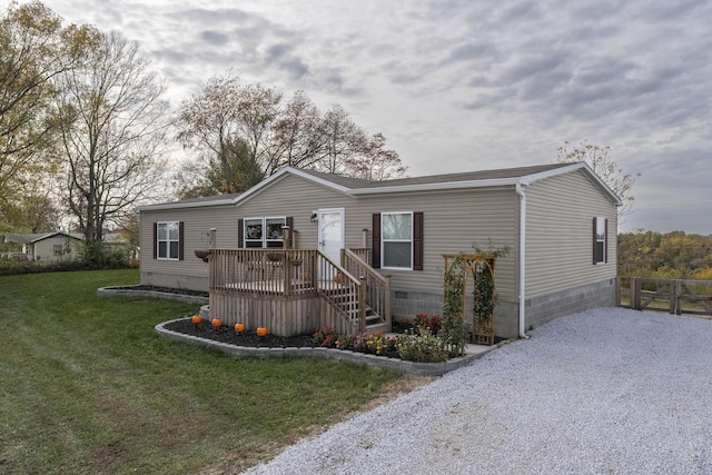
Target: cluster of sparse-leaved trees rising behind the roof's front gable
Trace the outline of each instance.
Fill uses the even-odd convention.
[[[244,191],[287,166],[367,179],[405,172],[398,155],[386,150],[385,137],[369,137],[343,107],[322,116],[304,91],[286,103],[281,99],[275,89],[241,86],[228,72],[185,100],[178,139],[199,159],[177,175],[179,196]]]

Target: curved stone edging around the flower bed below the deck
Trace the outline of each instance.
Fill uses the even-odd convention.
[[[349,350],[336,349],[336,348],[322,348],[322,347],[255,348],[255,347],[247,347],[247,346],[236,346],[236,345],[229,345],[221,342],[215,342],[208,338],[200,338],[192,335],[186,335],[178,331],[172,331],[165,327],[170,323],[178,321],[181,319],[182,318],[177,318],[175,320],[169,320],[169,321],[164,321],[162,324],[158,324],[156,325],[155,330],[158,335],[162,337],[186,342],[186,343],[191,343],[195,345],[208,346],[208,347],[225,352],[235,357],[325,356],[329,358],[342,359],[342,360],[352,362],[360,365],[382,367],[382,368],[390,369],[397,373],[417,375],[417,376],[442,376],[445,373],[452,372],[453,369],[467,366],[475,359],[479,358],[485,353],[488,353],[492,349],[498,348],[500,346],[502,346],[502,343],[498,345],[493,345],[492,347],[488,347],[486,350],[475,353],[475,354],[465,354],[465,356],[452,358],[444,363],[414,363],[414,362],[404,362],[402,359],[386,358],[383,356],[368,355],[365,353],[349,352]]]

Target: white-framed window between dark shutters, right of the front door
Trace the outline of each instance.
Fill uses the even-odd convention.
[[[413,212],[383,212],[383,268],[413,268]]]

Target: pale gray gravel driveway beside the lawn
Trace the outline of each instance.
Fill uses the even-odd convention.
[[[560,318],[248,472],[712,474],[712,321]]]

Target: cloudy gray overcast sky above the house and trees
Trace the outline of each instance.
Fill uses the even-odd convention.
[[[231,68],[344,106],[411,176],[548,164],[589,140],[643,174],[622,231],[712,234],[709,0],[44,3],[139,41],[174,105]]]

